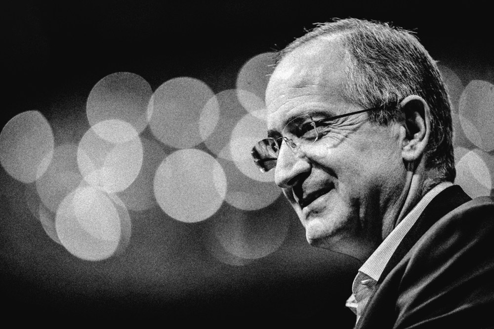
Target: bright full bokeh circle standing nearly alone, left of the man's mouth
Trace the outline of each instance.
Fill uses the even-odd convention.
[[[153,185],[156,200],[168,216],[198,222],[221,207],[226,176],[220,164],[206,152],[184,149],[165,158]]]

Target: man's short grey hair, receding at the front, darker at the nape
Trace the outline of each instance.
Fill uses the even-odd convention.
[[[371,122],[387,125],[398,115],[397,104],[409,95],[418,95],[431,111],[431,135],[426,149],[425,168],[436,171],[429,189],[439,182],[453,182],[451,103],[436,62],[412,35],[387,23],[355,18],[320,23],[291,42],[279,54],[286,54],[319,37],[337,35],[347,51],[347,85],[344,97],[364,108],[380,107],[369,113]]]

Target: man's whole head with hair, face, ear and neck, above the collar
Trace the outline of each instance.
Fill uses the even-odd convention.
[[[446,90],[408,32],[355,19],[318,26],[281,53],[266,105],[270,137],[286,142],[275,181],[313,245],[364,259],[407,202],[454,179]]]

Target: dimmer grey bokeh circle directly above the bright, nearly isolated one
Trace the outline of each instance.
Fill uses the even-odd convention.
[[[148,106],[148,120],[153,135],[168,146],[189,148],[203,142],[204,125],[216,124],[214,118],[201,123],[201,113],[214,103],[214,93],[201,80],[177,77],[163,83]],[[206,120],[206,118],[202,118]],[[203,127],[201,128],[201,125]]]

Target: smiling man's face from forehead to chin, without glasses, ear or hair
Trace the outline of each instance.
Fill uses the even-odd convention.
[[[268,129],[281,136],[287,123],[364,110],[346,101],[344,50],[312,40],[277,66],[266,90]],[[285,130],[286,131],[286,130]],[[275,182],[316,246],[365,259],[394,227],[389,216],[404,188],[399,127],[370,123],[368,113],[334,120],[313,144],[294,153],[283,143]]]

